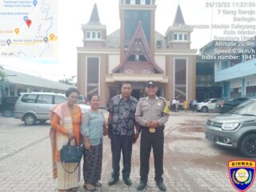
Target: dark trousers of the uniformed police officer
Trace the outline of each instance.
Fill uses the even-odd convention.
[[[150,169],[150,151],[153,148],[154,153],[154,180],[163,182],[163,131],[157,128],[157,132],[151,134],[148,130],[142,130],[140,160],[140,176],[142,182],[147,182]]]

